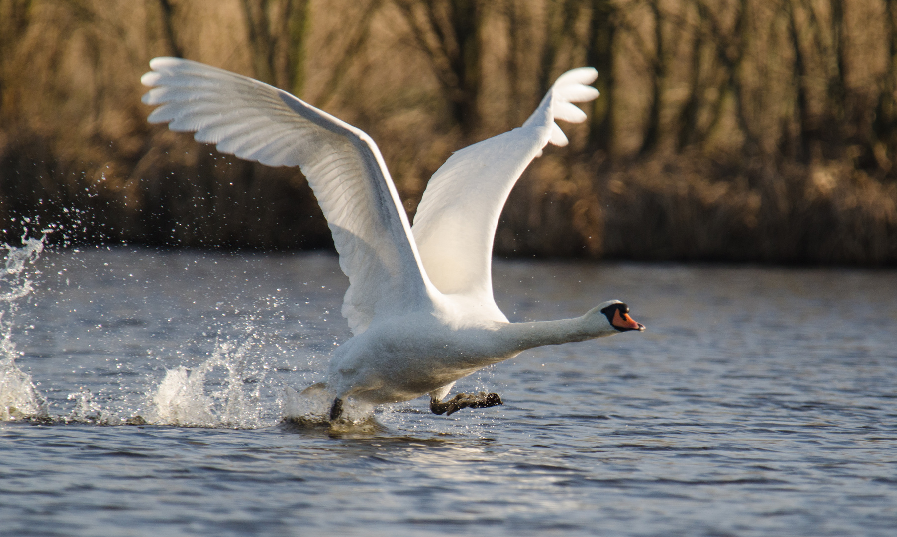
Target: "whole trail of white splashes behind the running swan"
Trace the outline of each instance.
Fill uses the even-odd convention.
[[[296,369],[289,366],[284,368],[284,362],[290,362],[284,357],[291,351],[286,345],[292,340],[282,333],[272,332],[271,325],[267,323],[272,308],[280,306],[272,299],[268,299],[257,311],[240,312],[236,308],[225,308],[228,314],[226,322],[216,315],[208,329],[222,335],[211,347],[205,347],[208,340],[205,339],[204,330],[203,338],[197,335],[196,341],[185,340],[174,351],[148,349],[150,357],[158,352],[159,359],[168,360],[172,354],[181,359],[175,363],[183,365],[163,371],[161,377],[153,372],[154,368],[150,367],[152,362],[143,364],[139,358],[132,361],[113,353],[111,359],[119,366],[124,365],[123,375],[139,375],[143,370],[146,382],[138,380],[135,384],[128,381],[128,377],[114,376],[112,385],[97,385],[90,384],[91,380],[82,379],[79,374],[79,378],[75,380],[73,377],[74,382],[70,384],[54,385],[56,389],[51,389],[49,394],[56,395],[48,401],[39,393],[27,369],[23,371],[16,363],[17,359],[22,360],[23,354],[16,350],[13,342],[15,337],[22,335],[22,317],[17,317],[17,314],[20,307],[27,307],[32,294],[39,290],[36,279],[39,272],[33,264],[43,251],[44,240],[23,239],[23,243],[22,247],[0,245],[6,254],[4,265],[0,265],[0,420],[48,420],[60,424],[99,425],[150,423],[239,429],[268,427],[283,419],[301,417],[316,423],[327,423],[332,395],[312,401],[285,390],[287,384],[302,385],[302,380],[297,377],[304,377],[304,373],[296,374]],[[47,263],[52,262],[48,260]],[[88,269],[86,274],[90,274],[89,266],[85,265]],[[99,270],[102,271],[102,268]],[[67,284],[67,274],[65,276]],[[222,304],[216,304],[216,314]],[[74,311],[74,307],[71,310]],[[110,312],[108,306],[99,311],[100,316]],[[88,318],[90,314],[83,316],[83,319]],[[205,316],[199,318],[202,319],[200,322],[207,322]],[[83,319],[78,318],[79,326],[83,324]],[[99,328],[100,324],[96,327]],[[94,333],[88,336],[91,331]],[[83,348],[91,350],[90,359],[95,358],[91,345],[100,342],[97,338],[114,333],[95,332],[93,326],[89,326],[84,333],[74,332],[74,340],[78,340],[79,335],[86,340]],[[61,328],[59,333],[64,336],[65,328]],[[208,352],[199,362],[193,361],[190,356],[196,348]],[[102,356],[101,352],[98,354]],[[80,356],[78,358],[81,359]],[[41,361],[41,365],[48,361]],[[81,368],[77,365],[79,363],[73,362],[73,373],[75,367]],[[52,365],[58,367],[56,363]],[[101,372],[106,373],[106,370]],[[84,382],[88,384],[83,385]],[[347,422],[363,421],[371,414],[372,409],[361,408],[350,401],[346,405],[344,418]]]

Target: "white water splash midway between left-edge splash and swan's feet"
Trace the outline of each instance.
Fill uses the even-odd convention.
[[[169,369],[152,394],[156,425],[256,428],[269,425],[262,417],[262,381],[266,371],[248,366],[248,351],[257,336],[250,333],[236,342],[218,342],[212,357],[198,368]],[[224,377],[210,379],[223,369]],[[217,388],[217,389],[215,389]]]

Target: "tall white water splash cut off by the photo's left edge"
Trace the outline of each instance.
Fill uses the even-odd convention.
[[[21,353],[13,342],[13,321],[22,299],[34,286],[26,270],[44,249],[44,238],[22,237],[23,246],[0,245],[6,250],[0,273],[0,420],[22,420],[47,416],[47,402],[28,373],[15,363]]]

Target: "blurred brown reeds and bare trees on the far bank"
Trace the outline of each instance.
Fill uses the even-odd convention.
[[[562,72],[602,96],[511,193],[497,254],[897,262],[894,0],[0,0],[0,222],[65,244],[332,247],[298,169],[150,126],[183,56],[367,131],[409,216]]]

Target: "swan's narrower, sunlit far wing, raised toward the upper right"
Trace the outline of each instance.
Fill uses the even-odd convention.
[[[414,240],[433,285],[445,294],[492,301],[492,240],[510,189],[546,143],[566,145],[554,123],[586,119],[572,102],[594,100],[597,71],[562,74],[523,126],[475,143],[436,170],[414,216]]]

